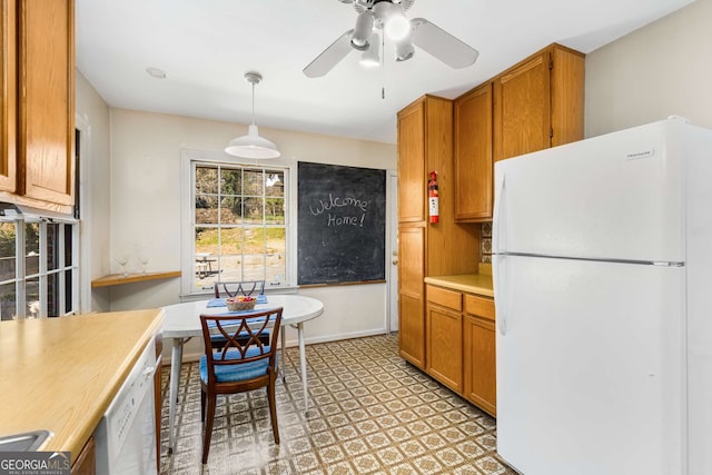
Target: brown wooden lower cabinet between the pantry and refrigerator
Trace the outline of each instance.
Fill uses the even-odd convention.
[[[494,300],[427,285],[425,372],[496,416]]]

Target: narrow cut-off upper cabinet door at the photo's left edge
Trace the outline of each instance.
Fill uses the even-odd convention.
[[[0,0],[0,190],[16,190],[16,0]]]

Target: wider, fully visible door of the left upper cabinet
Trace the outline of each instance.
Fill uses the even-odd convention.
[[[19,0],[18,194],[73,205],[72,0]]]

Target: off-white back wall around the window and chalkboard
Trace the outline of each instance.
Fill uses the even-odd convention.
[[[137,249],[148,253],[150,270],[180,269],[181,149],[222,150],[246,126],[205,119],[110,109],[111,254],[134,256],[129,270],[138,270]],[[395,117],[394,117],[395,120]],[[260,127],[284,157],[378,169],[396,168],[396,147]],[[112,270],[118,265],[112,263]],[[307,343],[385,333],[386,284],[317,287],[299,293],[324,301],[325,311],[305,325]],[[111,310],[150,308],[179,301],[180,279],[115,286]],[[287,331],[287,342],[296,333]],[[199,353],[199,344],[186,353]]]

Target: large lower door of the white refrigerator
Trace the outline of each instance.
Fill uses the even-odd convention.
[[[684,268],[495,256],[497,452],[522,473],[683,474]]]

